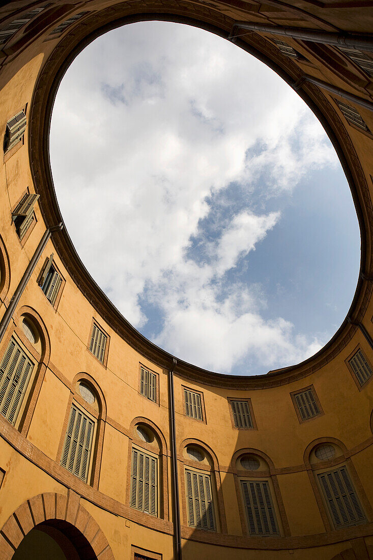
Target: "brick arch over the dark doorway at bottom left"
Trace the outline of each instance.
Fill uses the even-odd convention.
[[[67,496],[54,492],[38,494],[22,503],[0,530],[0,558],[11,560],[24,537],[40,524],[54,525],[77,544],[77,549],[79,543],[88,542],[90,555],[82,556],[82,560],[115,560],[100,526],[80,505],[79,494],[72,490],[68,490]]]

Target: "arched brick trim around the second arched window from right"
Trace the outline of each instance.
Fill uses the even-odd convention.
[[[244,470],[244,469],[238,470],[236,464],[237,464],[237,459],[241,455],[258,455],[260,458],[262,458],[265,461],[265,463],[267,463],[268,469],[251,470],[251,471]],[[243,447],[242,449],[237,450],[233,454],[231,459],[231,464],[230,464],[230,470],[234,476],[237,505],[240,514],[241,530],[243,532],[243,535],[246,537],[251,537],[248,528],[245,504],[242,498],[241,480],[262,479],[262,480],[271,481],[271,487],[273,491],[272,500],[276,507],[276,514],[277,514],[277,521],[280,530],[280,535],[291,536],[290,526],[287,519],[285,506],[282,500],[282,494],[278,483],[278,477],[276,474],[276,468],[273,464],[273,461],[268,457],[268,455],[263,453],[263,451],[254,449],[254,447]]]

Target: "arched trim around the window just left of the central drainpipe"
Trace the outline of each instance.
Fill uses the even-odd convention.
[[[147,443],[140,438],[136,437],[135,427],[137,424],[144,424],[157,436],[157,444],[154,442]],[[136,510],[130,507],[130,484],[131,484],[131,465],[132,465],[132,449],[143,450],[145,452],[150,452],[153,455],[158,456],[158,516],[154,517],[150,514],[144,513],[143,511]],[[169,451],[167,450],[167,443],[165,436],[160,431],[160,429],[151,420],[138,416],[132,420],[129,427],[128,433],[128,459],[127,459],[127,479],[125,483],[125,504],[130,507],[131,512],[138,517],[138,521],[143,523],[148,522],[149,517],[152,518],[152,523],[157,528],[162,530],[162,523],[164,521],[170,521],[169,512],[169,474],[168,465],[169,464]]]

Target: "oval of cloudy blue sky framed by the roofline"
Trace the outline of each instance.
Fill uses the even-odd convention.
[[[360,235],[338,158],[300,97],[228,41],[167,22],[97,39],[60,85],[50,157],[83,263],[179,358],[263,374],[346,316]]]

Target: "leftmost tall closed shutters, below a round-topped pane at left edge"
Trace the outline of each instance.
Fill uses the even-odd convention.
[[[13,425],[33,368],[34,364],[12,338],[0,366],[0,413]]]

